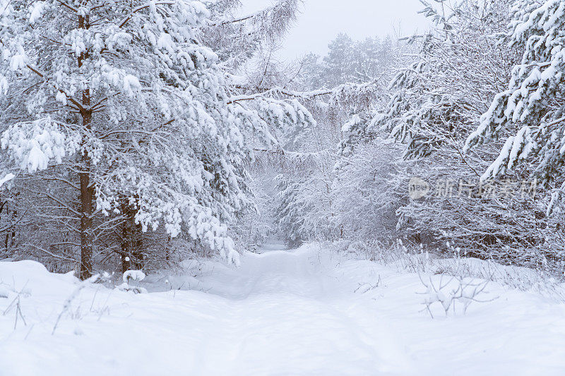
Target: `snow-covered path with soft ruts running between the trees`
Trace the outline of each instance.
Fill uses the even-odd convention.
[[[319,250],[268,244],[233,272],[201,278],[225,298],[232,367],[246,375],[376,375],[407,372],[410,361],[375,320],[374,301],[355,293]],[[370,325],[366,325],[367,322]],[[210,348],[218,341],[210,341]],[[231,363],[231,362],[230,362]],[[212,367],[213,365],[210,365]]]

